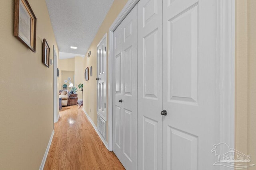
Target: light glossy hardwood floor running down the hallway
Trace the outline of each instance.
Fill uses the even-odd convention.
[[[124,170],[106,149],[82,108],[62,107],[44,170]]]

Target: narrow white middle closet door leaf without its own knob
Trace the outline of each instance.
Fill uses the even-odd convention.
[[[162,0],[138,2],[138,169],[162,169]]]

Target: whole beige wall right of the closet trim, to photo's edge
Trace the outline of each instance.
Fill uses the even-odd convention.
[[[256,1],[236,0],[236,149],[256,164]],[[248,168],[255,169],[255,166]]]

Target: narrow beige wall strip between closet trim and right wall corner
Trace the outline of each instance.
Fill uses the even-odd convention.
[[[236,149],[247,153],[247,0],[236,0]]]

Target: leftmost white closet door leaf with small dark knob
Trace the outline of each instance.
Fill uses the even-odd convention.
[[[137,6],[113,34],[113,151],[137,169]]]

